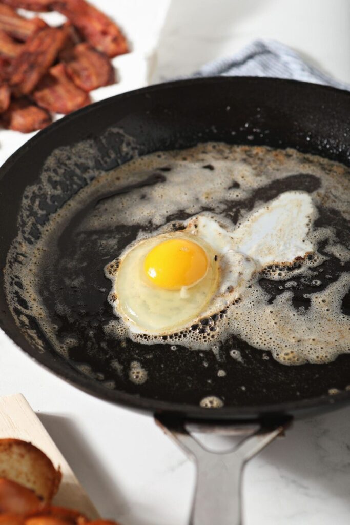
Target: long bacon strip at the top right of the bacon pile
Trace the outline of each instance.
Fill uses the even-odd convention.
[[[128,53],[121,29],[91,4],[84,0],[52,0],[50,7],[65,15],[93,47],[108,57]]]

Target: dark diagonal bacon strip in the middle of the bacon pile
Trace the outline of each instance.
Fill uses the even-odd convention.
[[[16,96],[28,95],[33,91],[54,63],[65,39],[66,34],[62,29],[48,27],[26,41],[22,53],[13,62],[10,85]]]

